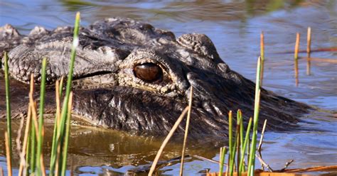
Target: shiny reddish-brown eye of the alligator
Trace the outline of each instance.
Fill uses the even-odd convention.
[[[134,75],[144,82],[155,82],[163,78],[163,70],[154,63],[144,63],[134,66]]]

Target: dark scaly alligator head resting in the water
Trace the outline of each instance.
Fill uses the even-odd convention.
[[[129,18],[106,18],[80,27],[73,80],[73,116],[93,126],[139,135],[164,136],[188,105],[193,87],[190,134],[198,138],[227,138],[228,111],[241,109],[245,124],[254,112],[255,83],[242,77],[220,58],[207,35],[176,36],[149,23]],[[41,60],[48,59],[48,91],[68,75],[72,27],[48,31],[35,27],[28,35],[0,28],[0,53],[9,52],[14,114],[25,112],[31,73],[38,84]],[[4,59],[2,60],[4,65]],[[4,66],[2,66],[4,67]],[[4,89],[1,89],[1,101]],[[46,112],[55,112],[53,93]],[[22,108],[24,107],[24,109]],[[0,104],[4,117],[4,102]],[[266,89],[261,90],[260,123],[287,130],[311,107]],[[24,113],[23,113],[24,114]],[[184,131],[186,121],[176,133]]]

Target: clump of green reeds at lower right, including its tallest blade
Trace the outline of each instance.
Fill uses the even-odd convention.
[[[259,121],[259,112],[260,112],[260,94],[261,94],[261,74],[262,74],[262,59],[261,57],[257,60],[257,75],[256,75],[256,87],[255,87],[255,106],[254,106],[254,123],[252,130],[252,140],[250,141],[250,129],[252,126],[252,118],[250,118],[245,138],[243,133],[245,131],[243,126],[243,118],[242,111],[237,110],[237,119],[236,119],[236,129],[235,129],[235,141],[233,142],[233,134],[232,134],[232,111],[228,113],[228,146],[229,146],[229,154],[228,154],[228,168],[227,175],[233,175],[233,173],[237,172],[237,175],[241,175],[242,172],[246,171],[245,168],[245,155],[247,155],[247,175],[254,175],[255,170],[255,150],[257,145],[257,127]],[[251,145],[250,150],[247,150],[247,147]],[[225,152],[223,152],[223,148],[220,149],[220,170],[219,175],[223,174],[223,158],[225,158]],[[235,156],[236,162],[235,165]],[[236,168],[236,169],[235,169]]]

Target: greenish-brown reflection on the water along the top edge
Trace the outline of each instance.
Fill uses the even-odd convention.
[[[60,0],[68,11],[81,11],[88,8],[100,9],[97,17],[101,18],[114,13],[128,12],[128,16],[144,20],[171,18],[176,21],[245,21],[246,18],[262,15],[278,9],[291,9],[298,6],[302,0],[296,1],[68,1]]]

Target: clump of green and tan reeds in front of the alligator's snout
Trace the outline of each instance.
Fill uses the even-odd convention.
[[[70,66],[68,72],[67,86],[63,99],[62,111],[60,111],[60,97],[62,96],[63,78],[55,84],[55,96],[57,101],[57,113],[55,114],[55,126],[53,133],[52,151],[50,153],[49,175],[65,175],[67,166],[68,143],[70,134],[71,106],[73,102],[73,93],[71,92],[71,82],[73,80],[73,67],[76,57],[76,48],[79,43],[78,32],[80,28],[80,13],[76,14],[75,27],[73,35],[73,46],[71,49]],[[9,92],[9,71],[8,56],[4,54],[5,60],[5,82],[6,82],[6,111],[7,111],[7,131],[6,138],[6,158],[9,175],[11,175],[11,109]],[[36,101],[33,99],[34,76],[31,75],[28,114],[26,118],[25,136],[23,138],[22,151],[20,153],[20,166],[18,175],[46,175],[46,168],[43,163],[43,109],[46,94],[46,67],[47,58],[43,58],[41,67],[41,89],[39,112],[37,118]],[[22,121],[23,123],[23,121]],[[19,131],[18,133],[20,133]],[[26,157],[25,157],[26,156]]]

